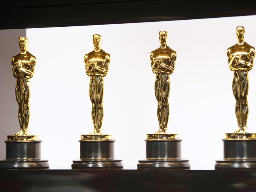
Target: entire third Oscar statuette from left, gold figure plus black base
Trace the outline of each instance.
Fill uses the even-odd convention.
[[[146,159],[140,160],[138,169],[189,169],[189,160],[181,158],[181,141],[177,134],[167,133],[169,119],[169,76],[173,73],[176,52],[167,46],[167,32],[159,32],[160,48],[150,53],[151,67],[156,74],[155,95],[158,101],[159,129],[147,134]]]

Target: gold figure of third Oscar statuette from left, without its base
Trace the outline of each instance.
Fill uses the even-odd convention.
[[[156,134],[167,133],[167,123],[169,119],[169,75],[173,73],[176,61],[176,52],[166,44],[167,32],[159,32],[160,48],[150,53],[152,71],[156,74],[155,94],[158,101],[158,122],[159,129]],[[154,135],[156,135],[154,134]]]

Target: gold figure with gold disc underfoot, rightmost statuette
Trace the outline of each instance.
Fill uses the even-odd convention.
[[[245,28],[236,28],[237,44],[227,50],[228,65],[234,72],[232,83],[233,94],[236,99],[236,119],[238,129],[235,133],[226,133],[226,138],[256,138],[255,133],[247,133],[249,87],[248,72],[252,69],[255,49],[244,40]]]

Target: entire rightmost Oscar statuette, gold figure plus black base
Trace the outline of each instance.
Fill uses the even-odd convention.
[[[223,139],[224,158],[216,161],[215,169],[256,168],[256,133],[247,133],[248,72],[253,66],[255,49],[244,41],[244,34],[245,28],[238,26],[237,44],[227,50],[228,65],[234,72],[232,88],[238,129],[234,133],[226,133]]]

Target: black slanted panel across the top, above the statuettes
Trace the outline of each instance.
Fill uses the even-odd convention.
[[[0,4],[0,29],[256,15],[255,0],[46,0]]]

